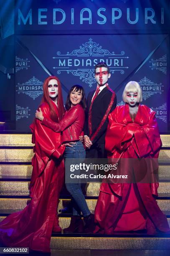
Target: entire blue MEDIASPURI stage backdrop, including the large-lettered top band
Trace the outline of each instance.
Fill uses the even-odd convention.
[[[65,101],[73,84],[81,84],[86,95],[94,90],[94,66],[105,61],[118,105],[124,104],[125,84],[139,82],[142,104],[156,112],[160,132],[167,132],[168,2],[16,1],[17,131],[29,131],[49,74],[60,79]]]

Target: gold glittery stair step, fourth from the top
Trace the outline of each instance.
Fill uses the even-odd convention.
[[[0,181],[0,196],[29,196],[29,181]],[[87,183],[86,196],[98,197],[100,183]],[[160,182],[159,196],[170,197],[170,182]],[[64,193],[69,196],[69,193]]]

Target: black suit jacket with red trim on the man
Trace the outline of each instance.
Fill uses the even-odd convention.
[[[89,125],[88,125],[88,117],[89,117],[89,108],[91,104],[91,99],[94,95],[94,91],[89,92],[89,95],[87,96],[87,113],[86,113],[86,120],[84,124],[84,135],[89,136]],[[99,127],[102,118],[104,117],[104,114],[107,111],[107,108],[109,106],[111,97],[112,97],[113,92],[108,89],[108,87],[105,87],[99,95],[97,95],[96,99],[93,102],[92,108],[91,108],[91,125],[92,125],[92,134],[96,131],[96,129]],[[114,102],[112,104],[112,108],[109,113],[111,113],[114,108],[116,108],[117,105],[117,98],[116,95],[114,97]],[[99,133],[95,136],[94,140],[92,143],[104,143],[105,141],[105,134],[107,130],[107,125],[108,125],[108,118],[104,122],[104,124],[101,126],[101,129]],[[91,137],[89,136],[89,137]]]

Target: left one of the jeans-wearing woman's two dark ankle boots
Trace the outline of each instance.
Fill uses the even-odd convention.
[[[83,233],[83,220],[80,216],[71,216],[71,222],[68,228],[64,228],[64,233]]]

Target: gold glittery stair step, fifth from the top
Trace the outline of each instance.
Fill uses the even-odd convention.
[[[29,198],[0,198],[0,212],[1,210],[22,210],[26,205]],[[58,209],[66,207],[70,199],[60,199]],[[90,211],[94,211],[97,199],[86,199]],[[162,211],[170,211],[170,200],[158,199],[157,204]]]

